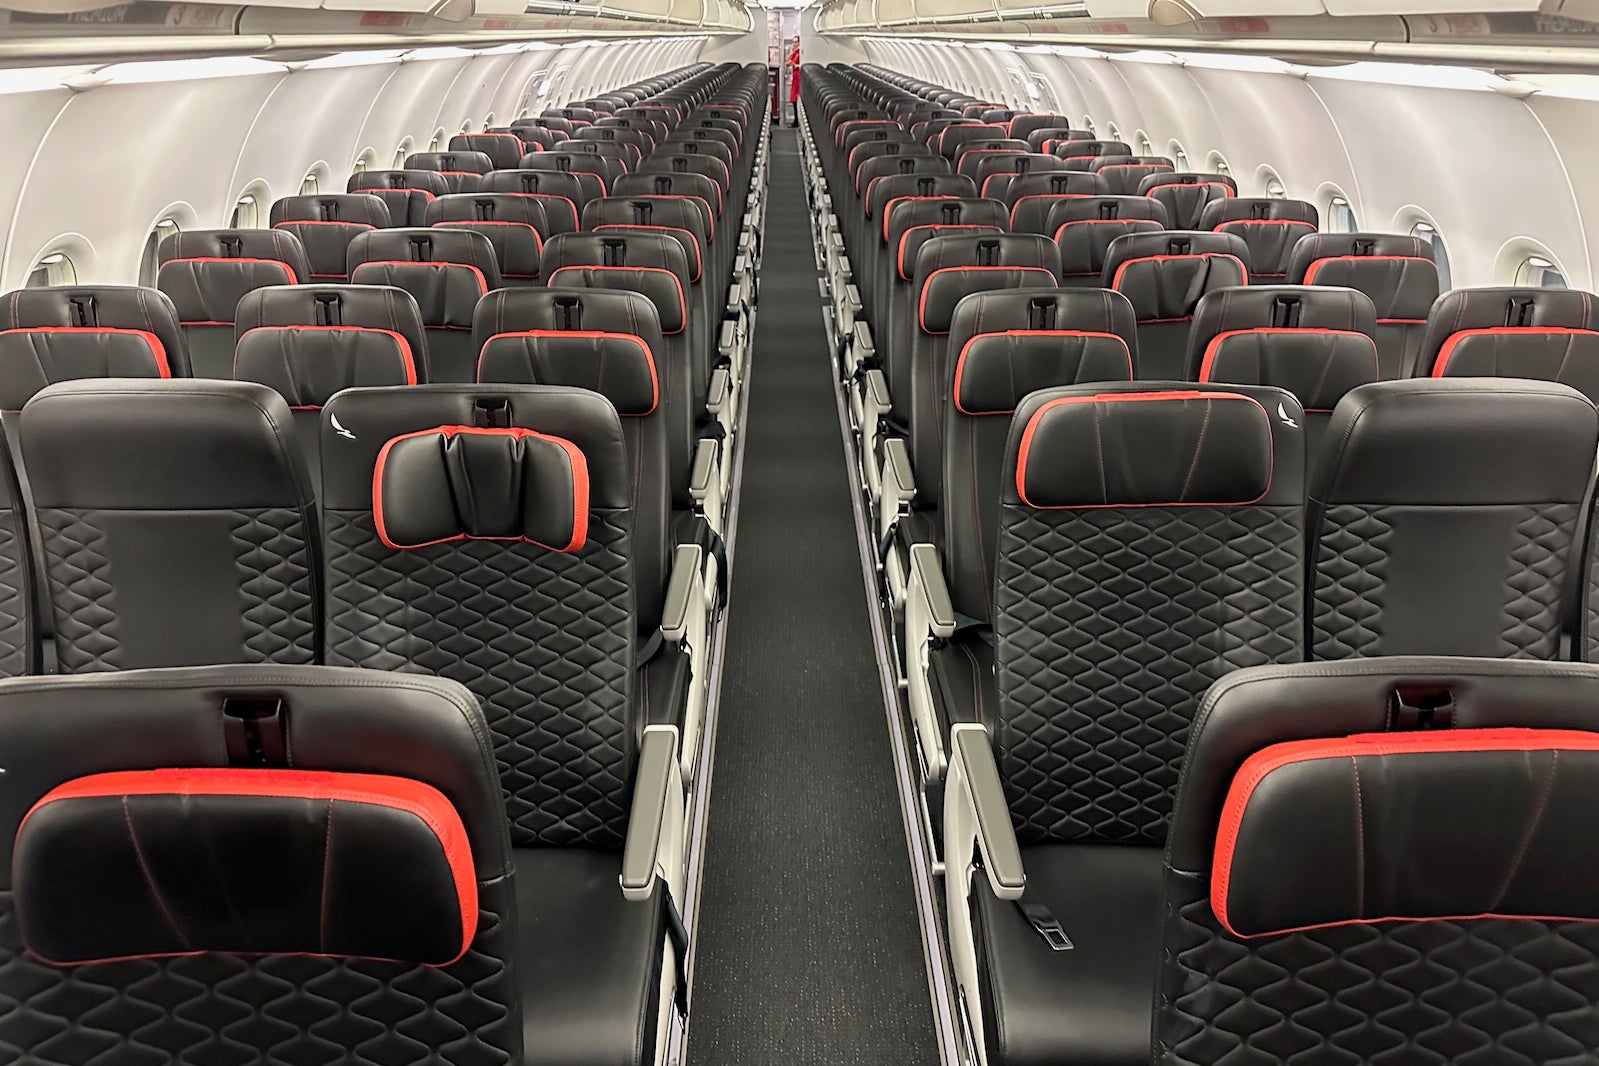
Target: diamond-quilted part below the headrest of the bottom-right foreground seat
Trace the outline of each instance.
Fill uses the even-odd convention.
[[[1599,1048],[1599,925],[1345,925],[1239,941],[1167,871],[1158,1066],[1578,1066]]]

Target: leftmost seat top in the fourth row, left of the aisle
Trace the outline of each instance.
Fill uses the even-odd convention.
[[[286,230],[179,232],[161,241],[157,259],[157,288],[185,326],[232,326],[251,289],[310,280],[305,248]]]

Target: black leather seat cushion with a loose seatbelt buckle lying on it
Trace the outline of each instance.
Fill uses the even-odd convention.
[[[1051,951],[1015,903],[972,884],[990,1066],[1148,1066],[1161,849],[1049,844],[1022,861],[1027,901],[1054,913],[1073,949]]]

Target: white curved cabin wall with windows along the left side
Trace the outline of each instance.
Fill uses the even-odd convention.
[[[222,227],[251,192],[265,225],[272,200],[297,193],[307,174],[317,174],[323,192],[342,192],[358,158],[385,169],[398,152],[425,152],[435,134],[448,144],[461,129],[483,129],[491,115],[507,123],[524,109],[537,113],[638,82],[694,62],[702,46],[704,38],[686,37],[440,50],[173,78],[241,69],[237,61],[197,61],[211,66],[142,67],[163,80],[139,83],[83,75],[80,91],[48,72],[0,78],[0,203],[11,205],[0,216],[0,291],[21,288],[58,251],[78,281],[133,284],[160,219]],[[547,72],[561,67],[560,82],[545,89]]]

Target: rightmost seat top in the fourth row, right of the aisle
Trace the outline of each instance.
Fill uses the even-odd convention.
[[[1378,321],[1426,321],[1438,299],[1433,246],[1396,233],[1313,233],[1294,245],[1294,284],[1342,284],[1377,307]]]

